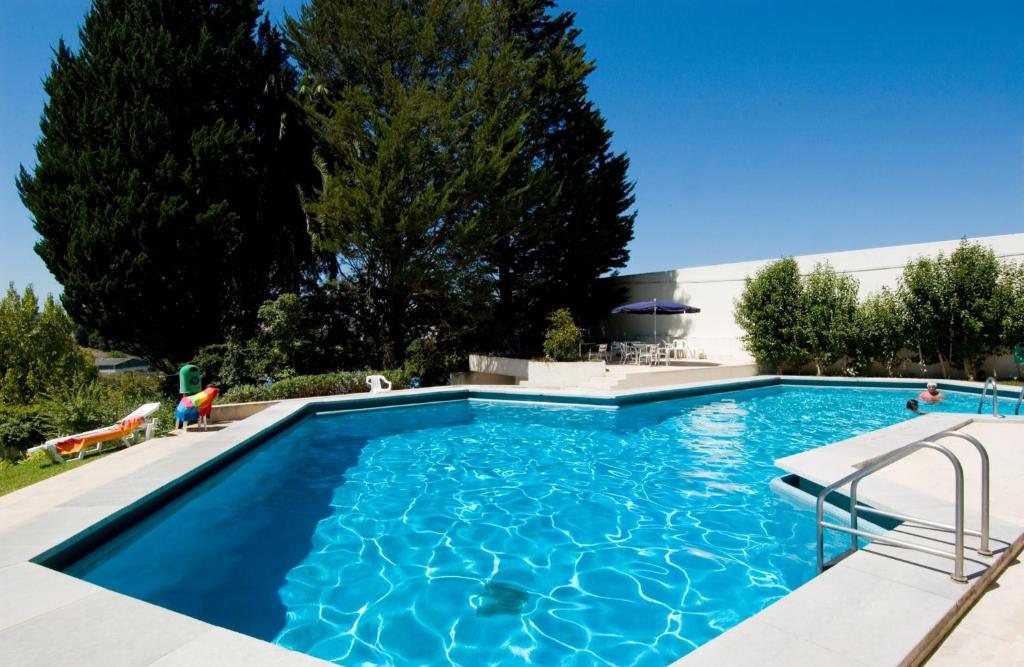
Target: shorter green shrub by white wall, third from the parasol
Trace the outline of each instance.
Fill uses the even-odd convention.
[[[851,337],[850,357],[859,372],[872,362],[881,363],[889,377],[899,372],[900,352],[907,345],[906,310],[893,290],[882,288],[857,308],[855,335]]]

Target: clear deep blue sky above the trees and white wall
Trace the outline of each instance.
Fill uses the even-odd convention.
[[[632,160],[627,272],[1024,231],[1024,2],[560,6]],[[0,285],[59,290],[14,175],[34,161],[51,46],[77,44],[87,8],[5,3]]]

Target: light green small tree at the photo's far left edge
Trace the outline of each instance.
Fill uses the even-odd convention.
[[[89,356],[75,343],[75,325],[53,297],[42,310],[31,287],[11,284],[0,301],[0,403],[23,404],[59,385],[96,375]]]

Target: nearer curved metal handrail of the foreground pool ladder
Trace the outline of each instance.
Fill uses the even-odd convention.
[[[953,525],[951,527],[944,527],[942,525],[935,525],[939,528],[947,528],[953,531],[953,552],[950,554],[947,551],[940,551],[938,549],[933,549],[930,547],[922,546],[920,544],[914,544],[912,542],[906,542],[903,540],[896,540],[890,537],[874,535],[871,533],[865,533],[864,531],[857,530],[854,528],[856,522],[856,489],[853,486],[854,483],[859,482],[863,477],[869,474],[878,472],[879,470],[886,468],[896,461],[903,459],[910,454],[913,454],[921,449],[931,449],[939,452],[948,459],[949,463],[953,466],[953,476],[954,476],[954,493],[955,493],[955,511]],[[986,455],[987,456],[987,455]],[[851,485],[850,489],[850,527],[839,526],[838,524],[831,524],[824,520],[824,501],[828,494],[835,492],[837,489],[845,487],[846,485]],[[882,513],[882,512],[880,512]],[[953,560],[953,581],[965,583],[967,578],[964,576],[964,467],[961,465],[959,459],[953,454],[949,449],[932,443],[930,441],[918,441],[916,443],[911,443],[909,445],[904,445],[899,449],[889,452],[885,456],[876,459],[872,463],[864,466],[863,468],[856,470],[839,482],[835,482],[818,494],[818,501],[816,507],[816,518],[817,518],[817,538],[818,538],[818,573],[824,572],[825,568],[831,565],[836,560],[845,558],[846,556],[854,553],[858,548],[859,544],[857,542],[858,537],[865,537],[879,542],[882,544],[891,544],[894,546],[901,546],[908,549],[914,549],[918,551],[923,551],[925,553],[931,553],[933,555],[942,556],[945,558],[952,558]],[[916,519],[914,519],[916,520]],[[925,523],[925,522],[922,522]],[[931,524],[931,522],[928,522]],[[825,546],[824,546],[824,529],[830,528],[836,531],[843,533],[848,533],[850,535],[850,548],[836,556],[833,560],[825,562]]]

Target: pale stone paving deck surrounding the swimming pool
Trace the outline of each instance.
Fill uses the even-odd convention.
[[[703,384],[722,383],[690,386]],[[429,391],[453,392],[455,398],[467,388],[474,387]],[[500,388],[510,389],[514,388]],[[427,390],[416,393],[424,391]],[[586,394],[612,398],[643,392]],[[407,392],[394,391],[390,395],[397,398],[403,393]],[[584,392],[516,390],[515,393],[543,400],[545,395]],[[330,400],[365,398],[361,394]],[[0,656],[4,665],[326,664],[31,561],[88,534],[98,523],[121,516],[160,495],[169,486],[179,484],[189,471],[211,464],[301,410],[306,403],[317,401],[326,399],[281,402],[219,430],[144,443],[0,497]],[[779,463],[785,464],[783,467],[802,468],[802,474],[808,478],[827,483],[849,472],[849,465],[877,455],[871,452],[892,449],[970,419],[963,415],[929,415]],[[1015,432],[1008,435],[1002,428],[1007,426],[1016,429]],[[1002,540],[995,548],[1004,553],[989,560],[997,560],[1000,555],[1006,556],[1007,543],[1024,532],[1024,501],[1016,498],[1014,504],[1010,498],[1024,481],[1024,450],[1017,452],[1008,444],[1024,443],[1024,420],[1008,419],[991,425],[978,422],[967,428],[971,432],[980,429],[978,434],[992,456],[992,534]],[[800,457],[806,458],[796,460]],[[946,519],[951,510],[942,503],[949,501],[940,493],[945,481],[931,478],[943,471],[933,469],[936,466],[925,461],[926,458],[921,457],[920,467],[909,475],[898,475],[901,470],[894,466],[887,471],[891,475],[880,474],[879,480],[865,483],[864,500],[873,504],[889,501],[901,510],[935,512]],[[963,458],[965,468],[970,469],[974,458],[969,454]],[[909,463],[910,459],[900,465]],[[971,471],[967,474],[972,477]],[[906,476],[913,477],[911,484]],[[974,489],[968,486],[968,506],[972,508],[968,513],[969,526],[976,522],[972,513],[976,512],[975,505],[971,504],[976,498]],[[967,591],[976,591],[977,596],[989,585],[981,574],[988,566],[984,559],[972,557],[969,561],[972,586],[955,584],[949,579],[946,573],[950,561],[916,552],[907,556],[908,553],[869,547],[677,664],[692,667],[784,662],[788,665],[800,661],[821,664],[825,660],[833,665],[901,664],[935,632],[937,625],[942,626],[943,619],[951,618],[951,610],[973,601],[965,601]],[[955,650],[956,644],[952,647],[950,650]]]

